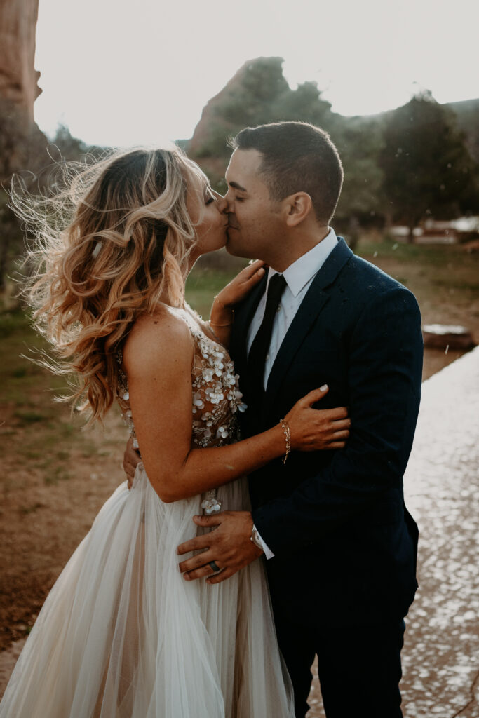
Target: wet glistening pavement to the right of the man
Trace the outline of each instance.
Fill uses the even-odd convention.
[[[405,718],[479,718],[479,347],[422,389],[404,478],[420,535],[402,709]],[[310,705],[308,718],[324,716],[317,678]]]

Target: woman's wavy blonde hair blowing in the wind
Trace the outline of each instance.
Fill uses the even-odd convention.
[[[118,391],[116,354],[139,314],[184,302],[195,225],[188,187],[207,180],[176,146],[133,149],[64,165],[47,196],[12,185],[34,270],[23,292],[37,330],[70,375],[70,399],[103,419]]]

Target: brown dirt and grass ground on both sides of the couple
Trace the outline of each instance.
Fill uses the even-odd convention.
[[[479,260],[469,263],[460,251],[450,257],[465,269],[459,273],[455,264],[454,276],[447,261],[425,270],[420,262],[405,267],[391,251],[373,256],[368,249],[367,256],[417,295],[425,323],[466,325],[479,343]],[[23,365],[9,363],[24,349],[24,338],[15,337],[14,331],[8,341],[0,336],[0,369],[6,367],[0,374],[0,650],[29,633],[65,562],[124,480],[127,436],[116,411],[104,429],[83,431],[80,419],[53,405],[47,372],[30,376]],[[424,378],[460,354],[427,350]]]

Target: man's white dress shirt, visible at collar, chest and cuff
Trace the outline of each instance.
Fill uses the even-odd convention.
[[[268,383],[269,373],[273,367],[276,355],[279,352],[279,348],[282,345],[284,337],[289,330],[289,327],[294,319],[294,315],[299,309],[299,304],[306,296],[307,290],[310,289],[313,279],[318,271],[320,271],[322,265],[327,260],[330,253],[338,244],[338,238],[335,234],[335,230],[330,228],[327,236],[317,243],[309,252],[303,254],[293,264],[290,264],[288,269],[283,272],[284,279],[286,279],[287,286],[284,287],[279,307],[274,317],[273,330],[271,332],[271,342],[269,344],[269,352],[266,355],[266,361],[264,363],[264,388]],[[266,289],[263,297],[258,304],[256,312],[251,324],[248,328],[248,334],[246,336],[246,348],[251,349],[256,332],[258,332],[261,322],[264,317],[264,309],[266,308],[266,293],[268,292],[269,280],[273,274],[278,274],[276,270],[269,269],[268,279],[266,281]],[[261,538],[261,536],[260,536]],[[272,559],[274,553],[269,549],[261,538],[261,544],[263,544],[264,555],[266,559]]]

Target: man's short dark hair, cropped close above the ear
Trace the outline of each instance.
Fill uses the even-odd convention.
[[[230,146],[262,154],[259,172],[272,200],[307,192],[318,222],[330,221],[343,184],[343,166],[327,132],[307,122],[271,122],[246,127]]]

